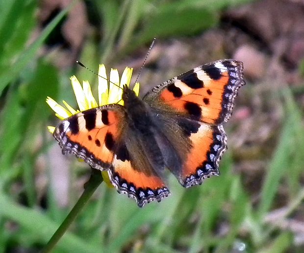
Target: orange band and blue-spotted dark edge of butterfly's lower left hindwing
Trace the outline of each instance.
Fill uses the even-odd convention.
[[[160,202],[163,197],[170,194],[160,177],[155,174],[146,175],[143,171],[134,168],[130,161],[114,159],[108,174],[118,192],[135,198],[139,207],[152,200]]]

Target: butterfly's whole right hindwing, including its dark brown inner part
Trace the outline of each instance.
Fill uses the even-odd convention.
[[[153,117],[166,167],[181,185],[188,188],[219,175],[218,163],[227,148],[222,124],[210,125],[166,112],[154,112]]]

